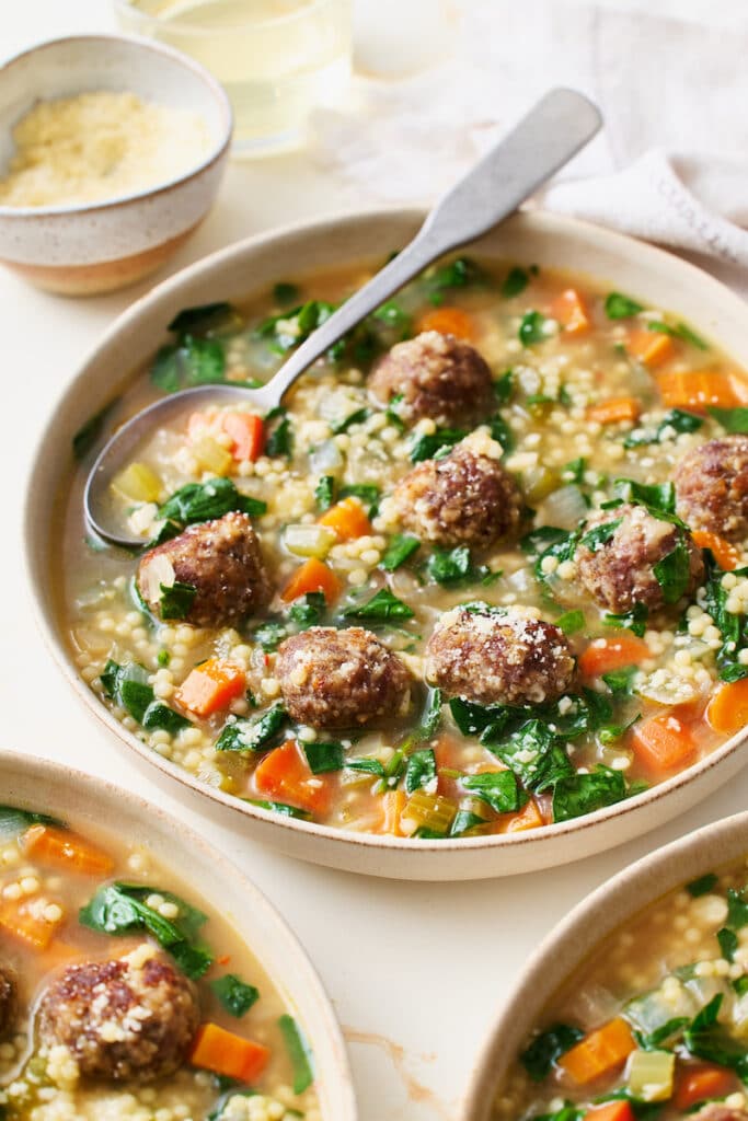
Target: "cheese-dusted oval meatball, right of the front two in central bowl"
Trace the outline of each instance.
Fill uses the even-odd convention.
[[[516,609],[455,608],[426,646],[426,680],[478,704],[555,701],[575,668],[563,631]]]

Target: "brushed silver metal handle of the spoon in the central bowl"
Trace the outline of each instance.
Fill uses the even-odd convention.
[[[278,405],[290,385],[333,343],[426,266],[479,238],[591,140],[602,118],[574,90],[551,90],[480,163],[434,206],[413,241],[317,327],[253,399]]]

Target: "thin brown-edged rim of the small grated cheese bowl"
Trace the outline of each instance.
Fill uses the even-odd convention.
[[[210,90],[222,117],[221,136],[211,147],[210,152],[202,157],[200,163],[192,165],[186,172],[183,172],[181,175],[177,175],[172,179],[159,182],[154,187],[145,187],[142,191],[135,191],[128,195],[116,195],[113,198],[105,198],[93,203],[79,203],[66,206],[3,206],[0,204],[0,217],[30,220],[35,217],[50,217],[55,214],[98,214],[102,211],[116,210],[118,206],[126,206],[130,203],[137,203],[144,198],[154,198],[158,195],[166,194],[175,187],[178,187],[184,183],[188,183],[190,179],[195,178],[202,172],[213,167],[223,158],[229,145],[231,143],[231,135],[233,131],[233,110],[225,90],[218,78],[213,77],[210,71],[205,70],[201,63],[195,62],[194,58],[191,58],[190,55],[185,55],[181,50],[175,50],[174,47],[168,47],[163,43],[154,41],[146,36],[116,35],[112,33],[100,35],[63,35],[55,39],[46,39],[44,43],[37,43],[35,46],[28,47],[26,50],[19,50],[18,54],[6,59],[2,65],[0,65],[0,85],[2,84],[6,71],[15,66],[16,63],[24,58],[28,58],[30,55],[56,49],[63,43],[86,43],[90,44],[92,48],[96,43],[126,43],[136,48],[150,52],[150,54],[170,58],[173,62],[178,63],[184,70],[191,71],[197,78],[200,78],[202,84]]]

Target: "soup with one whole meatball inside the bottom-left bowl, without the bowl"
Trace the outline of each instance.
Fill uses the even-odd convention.
[[[320,1121],[279,989],[137,845],[0,806],[1,1121]]]

